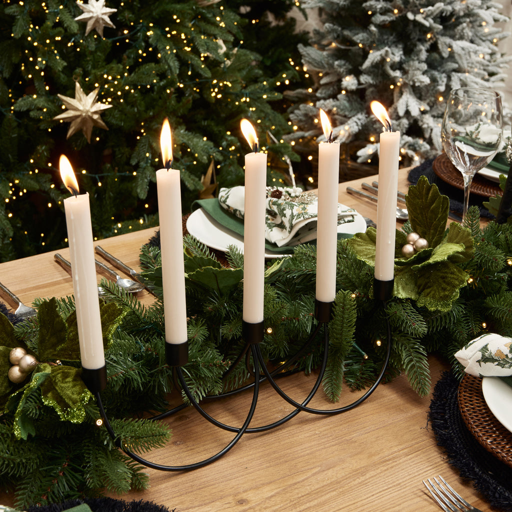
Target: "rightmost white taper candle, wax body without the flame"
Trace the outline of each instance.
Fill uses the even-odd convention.
[[[382,132],[375,243],[375,278],[380,281],[391,281],[394,277],[399,151],[400,132]]]

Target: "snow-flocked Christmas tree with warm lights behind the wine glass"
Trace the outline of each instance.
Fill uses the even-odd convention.
[[[440,126],[449,92],[502,87],[509,58],[498,42],[508,18],[489,0],[306,0],[322,28],[300,48],[315,87],[296,91],[294,137],[321,136],[318,109],[334,136],[358,148],[359,162],[377,155],[379,121],[371,100],[384,104],[401,132],[403,165],[441,151]]]

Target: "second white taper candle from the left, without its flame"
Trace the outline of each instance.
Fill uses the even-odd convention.
[[[171,344],[181,344],[187,341],[188,336],[180,172],[176,169],[160,169],[157,170],[156,176],[165,341]]]

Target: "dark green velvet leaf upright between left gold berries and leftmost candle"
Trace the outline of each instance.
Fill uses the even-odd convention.
[[[43,302],[37,311],[39,336],[37,339],[38,356],[41,361],[49,359],[78,359],[77,349],[67,343],[67,326],[59,314],[57,300],[51,298]],[[79,352],[78,352],[79,355]]]

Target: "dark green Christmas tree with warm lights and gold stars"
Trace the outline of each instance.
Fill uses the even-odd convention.
[[[278,171],[293,157],[276,70],[298,75],[289,54],[263,63],[253,37],[244,45],[245,28],[257,26],[250,13],[200,0],[112,0],[101,9],[98,21],[90,4],[71,0],[0,6],[0,260],[64,244],[60,154],[90,193],[96,237],[154,225],[164,117],[184,211],[215,178],[219,186],[243,180],[244,117]],[[210,165],[215,178],[203,179]]]

